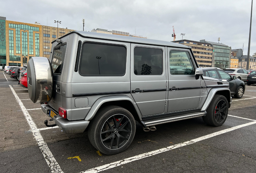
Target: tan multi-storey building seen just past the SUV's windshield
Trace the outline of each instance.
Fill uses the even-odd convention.
[[[184,44],[192,48],[192,52],[196,58],[199,67],[211,67],[213,58],[213,47],[211,44],[202,43],[193,40],[176,40],[175,43]]]

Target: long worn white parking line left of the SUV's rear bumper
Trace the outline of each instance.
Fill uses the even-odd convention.
[[[25,118],[27,119],[27,123],[30,126],[30,129],[32,131],[34,139],[37,141],[37,144],[39,145],[39,148],[40,148],[41,152],[43,153],[43,157],[44,157],[45,161],[47,162],[48,166],[50,167],[52,173],[63,173],[63,171],[60,168],[60,165],[57,163],[54,156],[52,155],[52,152],[48,148],[45,141],[43,141],[43,137],[40,133],[40,130],[37,129],[37,126],[36,126],[35,122],[33,121],[32,117],[29,115],[27,109],[25,108],[25,106],[23,105],[21,100],[19,99],[18,95],[15,93],[12,86],[9,85],[9,87],[12,90],[12,93],[13,93],[16,101],[19,103]]]

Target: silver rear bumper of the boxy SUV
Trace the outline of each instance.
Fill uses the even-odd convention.
[[[50,110],[54,110],[47,104],[41,105],[41,109],[48,117],[51,117]],[[56,125],[58,125],[58,127],[60,127],[64,133],[83,133],[90,122],[85,120],[69,121],[68,119],[64,119],[59,115],[54,116],[53,119]]]

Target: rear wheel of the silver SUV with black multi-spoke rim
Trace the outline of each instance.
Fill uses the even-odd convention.
[[[101,153],[114,155],[130,146],[135,131],[135,120],[128,110],[109,106],[95,115],[89,124],[88,136],[93,147]]]

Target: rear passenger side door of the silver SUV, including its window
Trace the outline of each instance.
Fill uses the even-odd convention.
[[[131,44],[130,78],[132,97],[142,116],[164,113],[165,47]]]

